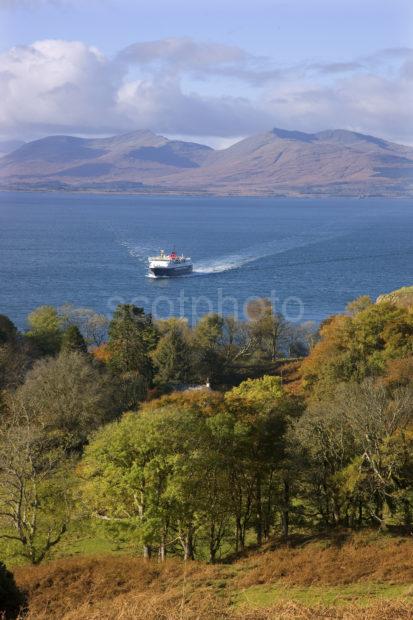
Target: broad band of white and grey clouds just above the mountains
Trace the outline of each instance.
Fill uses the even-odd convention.
[[[413,51],[280,66],[190,38],[137,42],[109,58],[43,40],[0,55],[0,134],[104,135],[138,128],[228,140],[273,126],[347,128],[413,143]]]

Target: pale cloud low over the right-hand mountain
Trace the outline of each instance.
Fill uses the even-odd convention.
[[[410,69],[409,69],[410,68]],[[329,83],[280,84],[266,95],[266,109],[286,128],[346,128],[413,143],[413,72],[405,62],[393,75],[358,72]]]

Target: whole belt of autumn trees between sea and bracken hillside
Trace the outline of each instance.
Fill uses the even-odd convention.
[[[409,308],[360,298],[318,334],[265,300],[193,328],[127,305],[109,323],[71,307],[28,323],[0,319],[4,553],[38,563],[79,523],[210,561],[291,531],[411,529]],[[233,386],[240,365],[288,353],[308,354],[299,391]],[[207,379],[219,389],[185,389]]]

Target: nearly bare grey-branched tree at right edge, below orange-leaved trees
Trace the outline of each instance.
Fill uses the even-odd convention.
[[[300,419],[302,479],[324,525],[383,527],[385,508],[393,516],[398,508],[409,512],[412,404],[409,389],[389,394],[369,379],[338,386]]]

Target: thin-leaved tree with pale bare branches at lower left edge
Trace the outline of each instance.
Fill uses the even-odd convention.
[[[0,539],[39,564],[69,520],[70,475],[60,449],[41,425],[13,404],[0,425]]]

